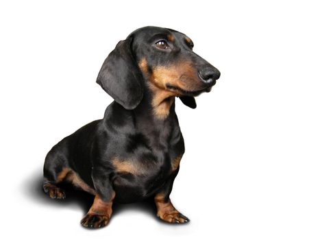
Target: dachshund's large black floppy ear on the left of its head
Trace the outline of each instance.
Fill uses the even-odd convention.
[[[103,62],[97,84],[128,110],[143,98],[142,75],[131,49],[132,38],[121,40]]]

